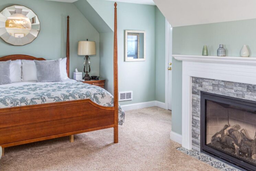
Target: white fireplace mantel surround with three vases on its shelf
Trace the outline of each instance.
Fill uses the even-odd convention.
[[[172,55],[182,62],[182,146],[192,148],[192,77],[256,84],[256,57]]]

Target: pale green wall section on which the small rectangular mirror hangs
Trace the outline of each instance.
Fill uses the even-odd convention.
[[[118,3],[119,91],[133,91],[133,100],[121,104],[155,100],[155,9],[153,5]],[[146,31],[146,61],[124,62],[124,30]]]

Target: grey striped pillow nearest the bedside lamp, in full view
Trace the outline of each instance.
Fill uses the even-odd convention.
[[[37,82],[61,82],[59,60],[36,61]]]

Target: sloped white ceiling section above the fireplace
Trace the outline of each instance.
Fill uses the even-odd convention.
[[[154,0],[172,27],[256,18],[255,0]]]

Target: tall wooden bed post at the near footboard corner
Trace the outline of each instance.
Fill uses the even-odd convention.
[[[117,45],[117,3],[115,2],[115,18],[114,18],[114,143],[118,143],[118,45]]]

